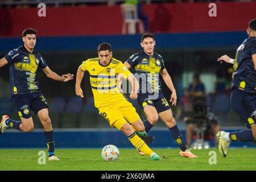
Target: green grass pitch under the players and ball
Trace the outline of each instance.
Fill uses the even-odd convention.
[[[179,155],[178,149],[159,149],[154,151],[162,158],[151,161],[148,156],[140,156],[134,148],[119,148],[120,156],[115,161],[105,162],[101,149],[57,149],[59,161],[38,164],[40,149],[1,149],[0,170],[255,170],[256,148],[230,148],[224,159],[217,149],[193,150],[199,156],[188,159]],[[46,151],[46,150],[44,150]],[[216,151],[217,164],[209,164],[209,151]]]

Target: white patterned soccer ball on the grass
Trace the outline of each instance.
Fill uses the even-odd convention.
[[[113,144],[108,144],[102,148],[101,156],[105,161],[117,160],[119,157],[119,150]]]

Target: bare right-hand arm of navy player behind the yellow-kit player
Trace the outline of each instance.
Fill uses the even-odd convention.
[[[176,95],[176,90],[174,88],[174,84],[172,83],[172,78],[167,72],[166,68],[162,69],[160,73],[161,73],[161,76],[163,77],[164,82],[172,92],[170,102],[172,103],[172,105],[176,106],[177,95]]]

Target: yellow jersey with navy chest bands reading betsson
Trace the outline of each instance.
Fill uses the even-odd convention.
[[[117,86],[117,76],[120,74],[127,78],[132,74],[121,61],[112,57],[110,63],[104,66],[100,64],[100,59],[96,57],[83,61],[81,68],[83,71],[89,72],[94,105],[97,108],[121,104],[123,101],[127,102]]]

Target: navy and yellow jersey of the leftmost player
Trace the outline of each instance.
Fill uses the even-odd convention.
[[[5,59],[10,66],[11,96],[39,91],[39,82],[35,78],[36,70],[38,67],[47,67],[40,53],[35,50],[30,53],[22,46],[11,50]]]

